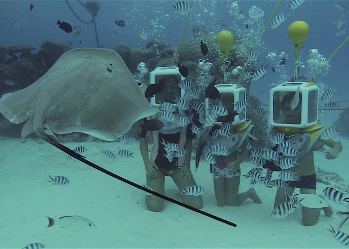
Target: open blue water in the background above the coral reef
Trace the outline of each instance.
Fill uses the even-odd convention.
[[[84,9],[77,1],[69,1],[75,12],[85,21],[91,19],[90,13]],[[34,8],[29,10],[32,3]],[[169,45],[176,47],[179,43],[179,36],[183,30],[185,15],[178,15],[173,12],[175,1],[100,1],[100,10],[96,17],[100,45],[105,48],[114,48],[119,43],[133,45],[136,48],[143,48],[153,38],[160,38]],[[190,13],[188,26],[184,33],[184,41],[192,38],[192,25],[204,25],[208,32],[217,33],[222,29],[236,33],[232,29],[234,16],[228,13],[228,6],[232,1],[196,1]],[[264,10],[262,20],[266,23],[271,15],[277,1],[238,1],[240,9],[248,17],[248,9],[255,5]],[[276,29],[268,29],[262,42],[265,46],[277,45],[279,51],[289,54],[287,65],[294,63],[294,49],[291,41],[287,37],[287,27],[295,20],[304,20],[310,26],[310,35],[304,42],[305,53],[312,48],[317,48],[325,58],[328,58],[334,50],[341,44],[348,34],[335,36],[336,25],[340,10],[334,4],[345,4],[346,1],[306,1],[300,7],[291,10],[292,14],[285,22]],[[289,1],[283,1],[278,9],[278,13],[288,9]],[[11,45],[30,45],[38,49],[40,44],[46,40],[54,40],[66,43],[71,41],[75,47],[96,47],[93,24],[81,23],[71,12],[65,1],[1,1],[0,2],[0,45],[7,47]],[[74,32],[66,33],[56,24],[57,20],[70,23],[72,26],[81,26],[82,34],[75,36]],[[117,36],[112,37],[114,21],[125,20],[124,27],[117,26]],[[345,17],[348,19],[348,17]],[[18,20],[21,25],[11,27],[10,22]],[[150,29],[151,21],[155,21],[161,27]],[[222,26],[222,24],[226,26]],[[149,33],[149,40],[142,40],[139,36],[139,27],[143,25]],[[348,23],[342,28],[348,29]],[[241,26],[240,28],[244,28]],[[79,41],[82,44],[79,45]],[[349,46],[346,45],[336,55],[331,62],[332,69],[329,75],[325,75],[321,80],[336,89],[347,88],[348,73],[345,68],[348,63]],[[260,65],[265,65],[267,61],[261,59]],[[291,67],[290,67],[291,68]],[[291,70],[291,69],[290,69]],[[291,74],[291,71],[289,72]],[[269,74],[269,82],[273,82],[273,75]],[[265,82],[257,82],[252,87],[252,94],[258,94],[262,99],[266,99],[267,91],[260,93],[265,88]],[[269,85],[269,84],[268,84]],[[347,91],[337,93],[340,100],[349,99]]]

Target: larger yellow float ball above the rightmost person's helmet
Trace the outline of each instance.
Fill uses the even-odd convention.
[[[310,28],[305,21],[295,21],[287,29],[287,36],[296,47],[303,47],[303,42],[309,36]]]

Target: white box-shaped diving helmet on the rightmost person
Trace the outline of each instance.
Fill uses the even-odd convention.
[[[284,82],[270,90],[269,101],[272,126],[301,128],[318,123],[319,87],[313,82]]]

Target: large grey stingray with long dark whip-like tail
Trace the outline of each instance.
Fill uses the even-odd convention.
[[[120,55],[102,48],[69,50],[33,84],[4,94],[0,99],[0,113],[7,120],[13,124],[26,122],[22,138],[35,132],[53,146],[105,174],[235,227],[234,223],[114,174],[54,139],[55,134],[82,132],[114,141],[136,121],[158,112],[159,107],[150,105]]]

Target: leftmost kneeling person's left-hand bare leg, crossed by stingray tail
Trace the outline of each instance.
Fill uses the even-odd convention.
[[[156,177],[147,176],[147,185],[150,186],[155,192],[164,194],[165,192],[165,175],[158,169],[158,175]],[[146,195],[146,205],[148,210],[154,212],[161,212],[164,207],[164,200],[155,195]]]

